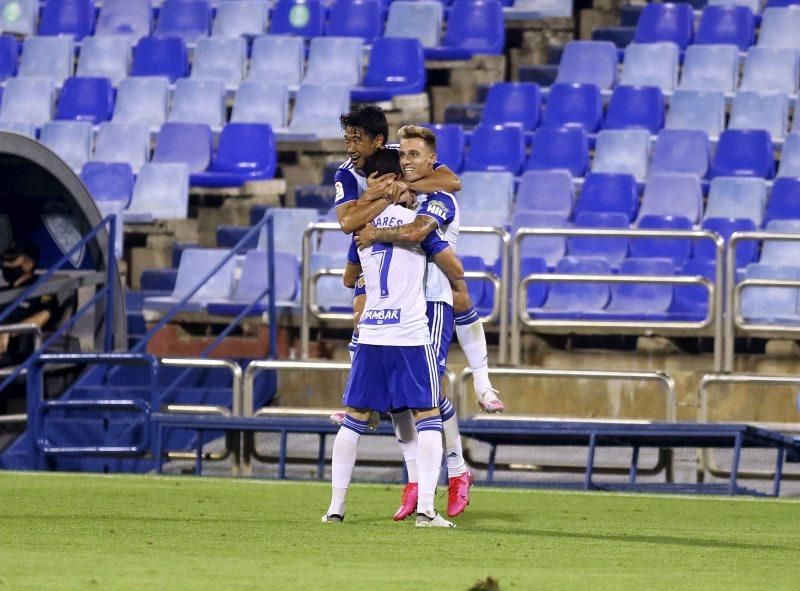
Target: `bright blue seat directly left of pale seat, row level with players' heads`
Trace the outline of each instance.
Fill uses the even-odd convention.
[[[580,127],[542,127],[533,133],[526,170],[568,170],[582,177],[589,168],[589,138]]]

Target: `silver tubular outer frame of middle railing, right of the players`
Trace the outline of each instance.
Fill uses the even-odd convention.
[[[723,349],[725,345],[723,335],[723,290],[721,286],[724,280],[724,246],[725,242],[717,233],[708,230],[641,230],[641,229],[609,229],[609,228],[520,228],[513,237],[513,246],[511,253],[511,260],[513,261],[513,268],[511,270],[511,285],[514,287],[511,292],[512,302],[511,308],[514,313],[511,315],[511,364],[520,364],[521,352],[521,330],[520,330],[520,317],[517,313],[521,309],[521,304],[518,301],[522,295],[522,290],[519,289],[521,278],[521,245],[523,240],[528,237],[543,237],[543,236],[591,236],[591,237],[607,237],[607,238],[660,238],[660,239],[675,239],[683,238],[686,240],[711,240],[715,245],[714,260],[715,267],[715,280],[714,284],[717,286],[714,295],[714,369],[719,370],[723,363]],[[606,282],[612,276],[596,276],[607,277]],[[641,277],[639,282],[641,283]],[[693,282],[697,282],[693,279]],[[678,324],[671,323],[674,327],[679,327]],[[610,326],[610,325],[609,325]],[[658,328],[657,324],[653,326]],[[644,328],[644,327],[643,327]]]

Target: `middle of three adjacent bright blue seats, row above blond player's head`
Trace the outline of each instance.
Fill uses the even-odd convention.
[[[603,97],[596,84],[553,84],[547,97],[543,127],[582,127],[587,133],[600,128]]]

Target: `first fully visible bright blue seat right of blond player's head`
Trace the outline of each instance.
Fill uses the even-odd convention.
[[[515,125],[479,125],[472,133],[464,170],[516,174],[525,158],[525,138]]]

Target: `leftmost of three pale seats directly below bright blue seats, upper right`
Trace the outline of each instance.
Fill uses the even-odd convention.
[[[674,43],[631,43],[625,48],[619,83],[671,92],[678,84],[678,53]]]

